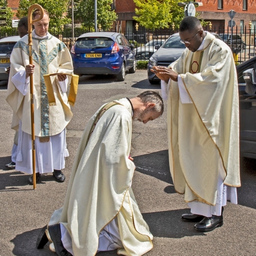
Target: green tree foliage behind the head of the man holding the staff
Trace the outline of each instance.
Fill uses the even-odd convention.
[[[55,29],[60,29],[64,24],[70,23],[70,19],[66,18],[64,14],[68,11],[69,0],[20,0],[20,4],[17,11],[17,16],[22,18],[27,16],[30,5],[40,4],[41,7],[46,9],[49,12],[50,23],[49,30],[50,32]]]

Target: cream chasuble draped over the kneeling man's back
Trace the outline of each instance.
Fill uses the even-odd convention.
[[[75,256],[95,255],[101,230],[114,218],[124,247],[118,249],[118,254],[138,256],[153,247],[153,236],[130,188],[135,170],[129,160],[132,108],[127,99],[116,102],[119,104],[105,111],[93,133],[91,127],[101,108],[85,127],[64,205],[49,222],[65,226]]]

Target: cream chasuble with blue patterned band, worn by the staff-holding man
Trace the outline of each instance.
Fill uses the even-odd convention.
[[[49,137],[56,135],[65,129],[71,120],[73,113],[68,104],[66,93],[62,92],[57,76],[51,77],[52,88],[56,99],[56,105],[49,107],[46,85],[43,76],[52,73],[73,73],[71,55],[65,44],[58,38],[49,34],[48,38],[32,38],[32,58],[35,65],[34,96],[35,96],[35,135]],[[11,79],[18,72],[25,69],[29,64],[29,46],[27,35],[18,41],[10,57],[11,68],[7,89],[7,102],[12,107],[12,129],[18,130],[21,120],[23,132],[31,134],[30,125],[30,88],[23,96],[13,85]],[[71,77],[69,78],[70,84]]]

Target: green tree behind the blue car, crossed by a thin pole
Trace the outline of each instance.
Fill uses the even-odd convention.
[[[101,24],[101,28],[108,30],[112,27],[113,21],[117,15],[111,10],[112,0],[97,1],[97,23]],[[71,10],[68,12],[71,17]],[[94,27],[94,0],[77,0],[76,11],[74,11],[74,19],[80,21],[84,27],[91,29]]]

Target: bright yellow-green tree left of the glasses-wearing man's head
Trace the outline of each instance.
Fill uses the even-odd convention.
[[[146,29],[169,27],[172,23],[176,28],[184,18],[184,9],[177,4],[178,0],[133,0],[138,8],[133,16]]]

